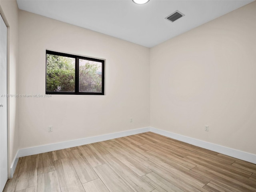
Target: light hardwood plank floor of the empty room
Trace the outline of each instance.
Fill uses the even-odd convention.
[[[4,192],[256,192],[256,164],[146,132],[22,157]]]

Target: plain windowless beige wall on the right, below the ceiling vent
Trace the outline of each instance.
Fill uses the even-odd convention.
[[[256,154],[256,2],[150,49],[150,123]]]

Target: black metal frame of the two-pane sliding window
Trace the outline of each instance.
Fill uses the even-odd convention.
[[[60,91],[47,91],[47,54],[57,55],[57,56],[64,56],[75,58],[75,92],[60,92]],[[104,88],[105,88],[105,60],[78,56],[73,54],[66,54],[61,52],[55,52],[46,50],[46,70],[45,70],[45,91],[46,94],[59,94],[59,95],[104,95]],[[102,63],[102,92],[79,92],[79,59],[85,59],[90,61],[96,61]]]

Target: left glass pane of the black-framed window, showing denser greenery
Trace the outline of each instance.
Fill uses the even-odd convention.
[[[75,92],[75,58],[46,54],[46,91]]]

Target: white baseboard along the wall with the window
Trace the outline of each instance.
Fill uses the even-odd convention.
[[[122,132],[111,133],[111,134],[106,134],[106,135],[88,137],[88,138],[83,138],[83,139],[78,139],[78,140],[71,140],[71,141],[66,141],[66,142],[24,148],[24,149],[20,149],[18,151],[17,157],[19,158],[19,157],[24,157],[24,156],[28,156],[28,155],[35,155],[35,154],[50,152],[50,151],[54,151],[54,150],[66,149],[66,148],[70,148],[70,147],[76,147],[76,146],[80,146],[80,145],[86,145],[86,144],[90,144],[90,143],[106,141],[106,140],[115,139],[115,138],[119,138],[119,137],[125,137],[125,136],[129,136],[129,135],[148,132],[149,130],[150,130],[150,128],[146,127],[146,128],[122,131]]]

